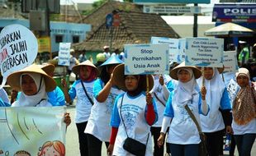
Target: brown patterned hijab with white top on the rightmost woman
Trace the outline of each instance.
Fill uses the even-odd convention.
[[[249,80],[249,71],[246,68],[239,68],[236,73],[238,76],[247,76]],[[250,85],[241,87],[236,95],[232,108],[234,121],[238,125],[246,125],[256,117],[256,91]]]

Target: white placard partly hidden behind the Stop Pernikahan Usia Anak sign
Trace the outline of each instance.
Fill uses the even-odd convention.
[[[151,44],[168,44],[169,45],[169,62],[177,62],[178,39],[151,37]]]

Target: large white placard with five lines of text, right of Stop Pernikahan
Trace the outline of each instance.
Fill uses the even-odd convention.
[[[186,38],[186,65],[223,67],[224,39]]]

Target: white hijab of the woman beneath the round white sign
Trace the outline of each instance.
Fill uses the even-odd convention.
[[[35,81],[36,83],[36,88],[37,88],[37,93],[35,95],[28,96],[23,93],[21,90],[21,96],[15,103],[17,106],[31,106],[35,107],[38,106],[39,104],[42,105],[45,103],[47,104],[47,94],[45,92],[45,79],[38,73],[24,73],[20,77],[20,85],[21,85],[21,80],[22,76],[31,76],[31,78]],[[44,100],[45,99],[45,100]]]

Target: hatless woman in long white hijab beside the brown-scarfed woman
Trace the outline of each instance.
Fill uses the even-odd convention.
[[[206,135],[206,148],[210,156],[218,156],[223,151],[224,130],[228,134],[232,131],[230,98],[220,76],[223,70],[205,67],[203,76],[197,79],[198,85],[206,89],[206,103],[210,107],[207,116],[200,115],[201,129]]]

